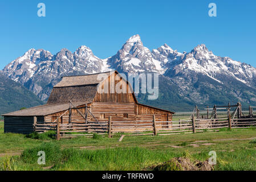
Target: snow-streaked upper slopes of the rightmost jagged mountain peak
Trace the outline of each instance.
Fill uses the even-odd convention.
[[[183,58],[181,57],[180,63],[169,67],[165,75],[171,74],[173,76],[190,71],[202,73],[220,83],[222,83],[222,78],[218,80],[220,75],[231,76],[248,86],[251,86],[251,81],[256,75],[256,69],[251,65],[234,61],[229,57],[216,56],[204,44],[195,47],[189,53],[185,53]]]

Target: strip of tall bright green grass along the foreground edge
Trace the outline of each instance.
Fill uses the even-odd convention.
[[[189,151],[149,150],[140,147],[116,147],[100,150],[62,149],[58,143],[45,142],[27,149],[21,156],[7,157],[0,163],[0,170],[143,170],[151,169],[170,161],[174,157],[185,157],[192,161],[208,160],[209,150],[190,154]],[[38,152],[46,154],[46,164],[39,165]],[[256,170],[255,143],[247,143],[243,150],[217,152],[216,170]],[[169,169],[179,169],[170,165]]]

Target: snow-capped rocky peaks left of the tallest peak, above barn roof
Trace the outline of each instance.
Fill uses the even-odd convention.
[[[62,76],[104,72],[109,70],[108,67],[106,60],[96,57],[90,48],[81,46],[74,53],[63,48],[56,55],[42,49],[30,49],[6,65],[2,73],[46,100],[52,86]]]

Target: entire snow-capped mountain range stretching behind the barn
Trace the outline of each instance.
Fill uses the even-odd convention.
[[[2,73],[25,85],[41,100],[47,100],[52,86],[62,76],[110,69],[124,73],[160,73],[161,81],[164,80],[159,87],[160,97],[175,95],[163,99],[168,103],[166,109],[173,100],[188,105],[217,104],[224,100],[256,105],[256,68],[251,65],[216,56],[204,44],[188,53],[173,50],[167,44],[150,51],[139,35],[129,38],[116,55],[107,59],[99,59],[86,46],[74,53],[64,48],[56,55],[43,49],[30,49],[6,65]]]

